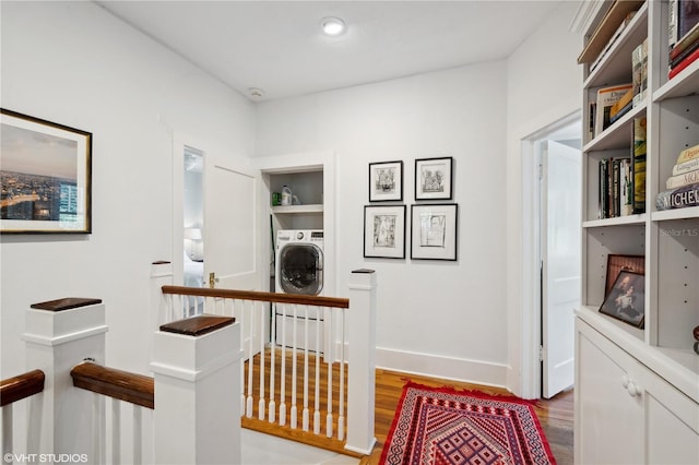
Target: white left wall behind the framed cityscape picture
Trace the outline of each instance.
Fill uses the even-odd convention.
[[[143,371],[151,263],[173,253],[173,131],[248,155],[253,107],[92,2],[2,2],[1,21],[2,107],[94,138],[93,234],[2,236],[1,375],[24,371],[25,309],[61,297],[102,298],[109,365]]]

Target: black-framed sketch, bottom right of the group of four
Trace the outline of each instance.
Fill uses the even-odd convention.
[[[457,260],[455,203],[412,205],[411,259]]]

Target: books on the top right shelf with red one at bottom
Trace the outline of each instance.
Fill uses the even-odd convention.
[[[699,58],[699,0],[668,2],[668,79]]]

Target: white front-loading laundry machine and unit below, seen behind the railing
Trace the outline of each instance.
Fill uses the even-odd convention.
[[[323,289],[323,231],[281,229],[276,234],[275,290],[283,294],[317,296]],[[274,306],[276,344],[309,350],[322,347],[323,312],[301,306],[294,315],[291,306]],[[308,321],[307,321],[308,320]],[[306,337],[308,329],[308,337]],[[296,334],[296,343],[294,343]],[[320,339],[317,339],[320,336]],[[320,351],[323,351],[322,348]]]

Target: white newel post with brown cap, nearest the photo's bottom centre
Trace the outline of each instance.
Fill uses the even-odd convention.
[[[240,324],[202,314],[161,326],[151,370],[156,464],[239,464]]]

